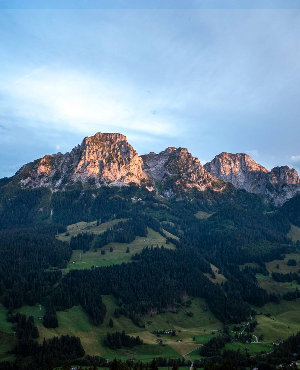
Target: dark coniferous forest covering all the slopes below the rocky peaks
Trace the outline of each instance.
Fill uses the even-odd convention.
[[[296,300],[300,296],[297,289],[284,295],[269,293],[259,287],[256,279],[257,273],[269,275],[267,262],[300,251],[299,241],[295,243],[286,236],[290,222],[300,226],[299,196],[275,209],[259,195],[239,191],[230,184],[222,192],[191,190],[190,198],[180,200],[159,198],[138,186],[102,186],[86,191],[70,188],[51,195],[44,188],[10,188],[6,180],[0,185],[0,296],[1,304],[8,308],[7,321],[14,323],[18,339],[13,349],[15,363],[1,362],[0,369],[47,369],[51,363],[61,366],[65,361],[78,361],[82,366],[94,361],[100,366],[103,362],[101,357],[88,357],[77,337],[54,337],[39,345],[33,317],[26,318],[16,311],[24,305],[43,304],[47,328],[59,326],[57,312],[79,305],[91,325],[99,326],[106,316],[101,296],[112,295],[119,302],[118,314],[140,327],[143,315],[173,312],[183,296],[194,296],[205,299],[214,316],[227,326],[246,321],[250,314],[254,317],[256,312],[250,305],[280,304],[283,299]],[[198,219],[198,211],[210,217]],[[102,224],[119,218],[127,221],[117,222],[98,235],[81,232],[69,243],[55,238],[67,232],[66,226],[72,223]],[[147,227],[161,235],[166,235],[162,229],[173,234],[174,238],[170,234],[166,238],[176,249],[147,246],[132,255],[129,263],[71,269],[62,279],[61,269],[66,268],[73,250],[85,252],[92,245],[97,250],[111,242],[130,243],[137,236],[146,237]],[[218,266],[226,278],[222,286],[205,275],[213,274],[210,263]],[[241,268],[245,263],[255,266]],[[296,272],[276,271],[270,278],[276,282],[300,282]],[[200,352],[203,359],[196,366],[252,366],[254,360],[247,354],[222,351],[231,341],[231,334],[221,334],[205,344]],[[299,338],[300,334],[295,333],[276,346],[272,354],[256,359],[256,366],[260,363],[260,368],[271,369],[292,361],[293,353],[300,348]],[[103,343],[116,349],[143,342],[139,337],[116,332],[103,337]],[[151,369],[170,363],[160,358],[155,361],[148,364]],[[125,365],[128,366],[113,361],[110,369],[124,369]],[[171,366],[175,366],[174,362]]]

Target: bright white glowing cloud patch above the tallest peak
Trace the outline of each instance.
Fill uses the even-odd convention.
[[[130,128],[151,135],[174,136],[176,120],[169,114],[157,115],[153,105],[170,105],[167,98],[153,96],[144,100],[134,86],[109,78],[90,77],[71,71],[53,71],[23,81],[41,71],[34,71],[7,88],[15,114],[27,120],[53,122],[55,129],[69,127],[86,132],[115,131]],[[23,81],[22,84],[18,82]],[[146,92],[144,92],[146,94]],[[9,104],[9,102],[8,102]],[[33,123],[34,124],[34,123]],[[179,126],[178,126],[179,127]]]

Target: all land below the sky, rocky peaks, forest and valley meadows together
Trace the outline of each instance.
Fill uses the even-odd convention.
[[[299,209],[295,169],[242,153],[97,133],[25,164],[0,179],[0,370],[297,367]]]

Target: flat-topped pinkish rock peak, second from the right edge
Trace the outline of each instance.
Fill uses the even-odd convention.
[[[215,177],[231,182],[238,189],[254,193],[265,191],[269,171],[253,161],[248,154],[223,152],[205,164],[204,168]]]

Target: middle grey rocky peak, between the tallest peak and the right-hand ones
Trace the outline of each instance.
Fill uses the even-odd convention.
[[[142,169],[150,178],[168,183],[163,191],[165,195],[184,188],[196,187],[202,191],[221,190],[225,186],[224,182],[209,174],[186,148],[168,147],[158,154],[150,152],[141,158]]]

